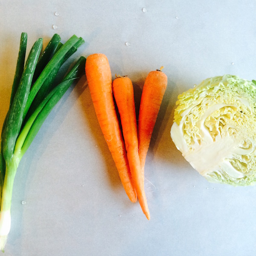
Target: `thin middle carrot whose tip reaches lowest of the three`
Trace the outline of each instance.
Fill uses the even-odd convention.
[[[131,177],[140,202],[143,213],[150,219],[148,204],[144,191],[144,178],[140,168],[138,154],[137,119],[134,104],[134,89],[131,79],[117,77],[113,83],[113,94],[119,111],[125,148],[131,170]]]

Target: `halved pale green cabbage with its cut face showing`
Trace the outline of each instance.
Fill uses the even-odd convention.
[[[256,183],[254,83],[238,76],[215,76],[178,96],[172,140],[210,182]]]

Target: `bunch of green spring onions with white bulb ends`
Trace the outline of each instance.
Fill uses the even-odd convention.
[[[60,41],[60,36],[55,34],[42,51],[43,39],[39,38],[25,63],[27,34],[21,34],[9,111],[1,134],[0,250],[4,250],[11,227],[12,190],[20,160],[50,111],[70,85],[84,74],[85,58],[80,57],[59,80],[64,62],[84,43],[76,35],[65,44]]]

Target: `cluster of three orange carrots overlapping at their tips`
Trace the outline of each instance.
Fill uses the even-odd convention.
[[[132,202],[139,199],[143,213],[149,220],[144,190],[144,165],[151,134],[166,90],[167,76],[161,70],[148,74],[142,92],[137,131],[131,80],[128,77],[116,77],[112,84],[108,58],[98,53],[87,57],[85,73],[99,125],[125,192]],[[113,97],[119,111],[121,127]]]

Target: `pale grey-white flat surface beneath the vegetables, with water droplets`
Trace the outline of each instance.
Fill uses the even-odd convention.
[[[256,187],[208,183],[170,138],[183,90],[225,73],[256,79],[255,12],[247,0],[0,0],[1,126],[23,31],[28,49],[54,33],[83,37],[73,59],[105,53],[137,102],[149,71],[164,66],[169,79],[145,166],[151,220],[125,195],[81,79],[20,162],[4,255],[255,255]]]

